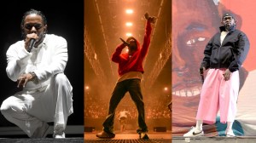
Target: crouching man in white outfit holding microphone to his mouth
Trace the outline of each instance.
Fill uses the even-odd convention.
[[[64,74],[67,41],[47,34],[41,11],[27,11],[20,24],[23,39],[7,53],[8,77],[22,90],[3,101],[1,112],[30,138],[44,138],[54,122],[54,138],[65,138],[67,117],[73,113],[73,87]]]

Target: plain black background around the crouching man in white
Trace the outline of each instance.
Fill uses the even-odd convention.
[[[1,4],[0,41],[0,104],[18,91],[17,83],[11,81],[5,72],[6,51],[12,43],[21,40],[20,22],[29,9],[44,13],[48,20],[48,33],[66,38],[68,61],[65,70],[73,85],[73,114],[67,125],[84,124],[84,1],[61,0],[9,0]],[[15,126],[0,114],[0,127]]]

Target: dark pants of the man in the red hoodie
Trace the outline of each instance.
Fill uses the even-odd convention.
[[[115,85],[109,102],[108,117],[103,123],[103,130],[105,132],[113,133],[115,109],[119,105],[119,102],[124,98],[126,92],[129,92],[131,94],[131,99],[135,102],[135,105],[137,106],[139,126],[139,129],[137,129],[137,133],[147,132],[148,127],[145,123],[145,110],[140,79],[127,79]]]

